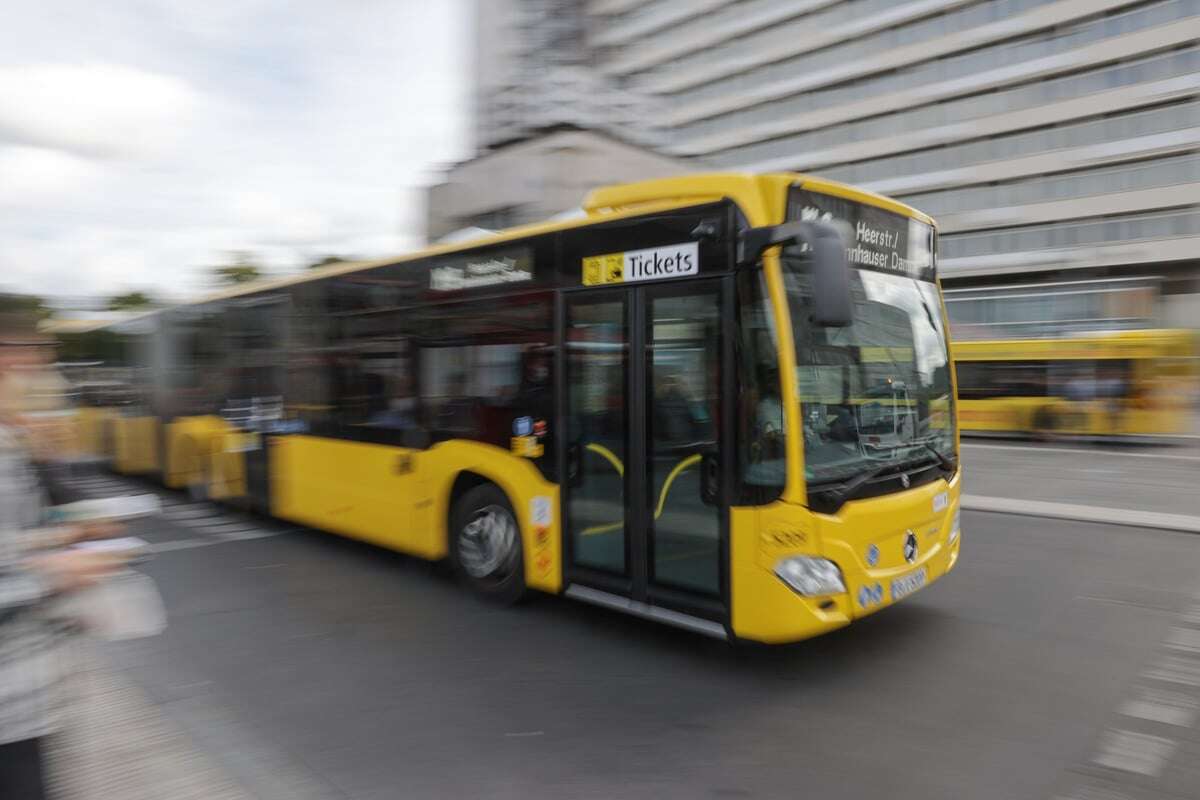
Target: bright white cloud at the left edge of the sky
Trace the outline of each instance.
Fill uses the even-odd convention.
[[[0,139],[85,157],[162,154],[199,106],[186,82],[122,65],[0,67]]]

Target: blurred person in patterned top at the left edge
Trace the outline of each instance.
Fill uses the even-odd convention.
[[[35,320],[0,314],[0,798],[46,796],[46,736],[60,724],[66,648],[77,624],[60,600],[112,573],[112,553],[70,549],[89,531],[47,528],[23,427],[29,369],[44,348]]]

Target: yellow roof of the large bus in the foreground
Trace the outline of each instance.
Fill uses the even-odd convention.
[[[400,255],[364,261],[343,261],[281,278],[238,284],[197,297],[196,300],[188,300],[175,306],[146,312],[145,314],[138,315],[137,319],[152,317],[162,311],[168,311],[169,308],[200,306],[218,300],[257,294],[259,291],[270,291],[272,289],[282,289],[284,287],[306,283],[308,281],[316,281],[324,277],[348,275],[377,266],[401,264],[403,261],[428,258],[431,255],[456,253],[484,245],[503,243],[516,239],[524,239],[527,236],[536,236],[558,230],[570,230],[572,228],[583,228],[596,222],[619,219],[641,213],[653,213],[654,211],[668,211],[672,209],[682,209],[703,203],[715,203],[722,199],[730,199],[737,203],[743,212],[745,212],[750,224],[769,224],[773,221],[784,218],[784,209],[787,201],[786,190],[791,186],[804,186],[814,192],[833,194],[835,197],[842,197],[857,203],[874,205],[919,222],[934,224],[934,221],[926,215],[898,200],[893,200],[892,198],[856,188],[846,184],[840,184],[838,181],[802,175],[799,173],[696,173],[690,175],[679,175],[676,178],[653,179],[638,181],[636,184],[618,184],[596,188],[583,200],[586,216],[535,222],[488,233],[479,237],[432,245],[422,249]],[[125,319],[121,321],[127,323],[132,321],[132,319]],[[116,326],[120,324],[121,323],[116,321],[103,323],[97,324],[95,329]]]

